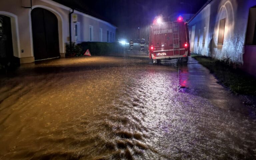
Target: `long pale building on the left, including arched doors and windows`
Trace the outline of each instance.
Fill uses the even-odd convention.
[[[71,11],[51,0],[1,0],[0,58],[13,55],[20,63],[29,63],[65,56]],[[115,41],[116,27],[106,21],[77,10],[71,20],[73,42]]]

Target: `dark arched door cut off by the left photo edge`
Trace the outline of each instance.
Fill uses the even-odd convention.
[[[0,15],[0,58],[13,57],[11,18]]]

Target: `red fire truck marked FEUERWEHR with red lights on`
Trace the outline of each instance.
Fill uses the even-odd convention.
[[[162,59],[188,61],[188,26],[182,17],[178,17],[174,22],[163,22],[162,17],[156,17],[149,33],[149,58],[153,64],[159,63]]]

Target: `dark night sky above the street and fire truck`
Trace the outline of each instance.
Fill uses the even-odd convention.
[[[207,0],[54,0],[106,20],[124,30],[150,24],[155,16],[196,13]],[[184,2],[185,4],[180,4]]]

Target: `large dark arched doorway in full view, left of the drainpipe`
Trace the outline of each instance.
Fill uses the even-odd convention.
[[[35,60],[60,56],[58,19],[50,11],[35,8],[31,11]]]

